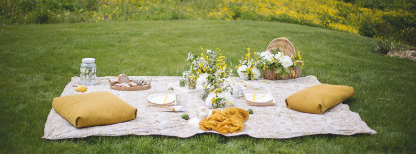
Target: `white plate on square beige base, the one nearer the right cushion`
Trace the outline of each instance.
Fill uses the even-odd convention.
[[[244,98],[249,106],[274,106],[273,95],[266,90],[244,90]]]

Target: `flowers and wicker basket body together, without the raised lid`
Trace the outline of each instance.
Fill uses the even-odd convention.
[[[273,54],[276,53],[276,54]],[[279,79],[293,79],[300,77],[302,67],[305,63],[302,61],[301,52],[298,50],[297,55],[284,55],[279,48],[272,50],[272,52],[266,50],[260,53],[260,60],[258,67],[263,69],[263,77],[266,75],[277,74],[277,78],[271,80]],[[272,71],[272,72],[270,72]],[[271,75],[270,75],[271,74]]]

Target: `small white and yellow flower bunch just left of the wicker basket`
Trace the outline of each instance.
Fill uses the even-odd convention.
[[[237,73],[241,79],[254,80],[259,79],[261,73],[257,69],[259,57],[256,51],[254,51],[254,58],[251,57],[250,48],[247,48],[247,54],[244,58],[239,59],[239,65],[237,67]]]

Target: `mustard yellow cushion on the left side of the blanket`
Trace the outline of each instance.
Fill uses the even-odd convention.
[[[136,119],[137,109],[108,91],[54,98],[52,108],[77,128]]]

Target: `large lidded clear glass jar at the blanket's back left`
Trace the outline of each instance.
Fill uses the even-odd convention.
[[[81,84],[85,86],[94,86],[97,83],[97,66],[94,58],[83,58],[80,66]]]

